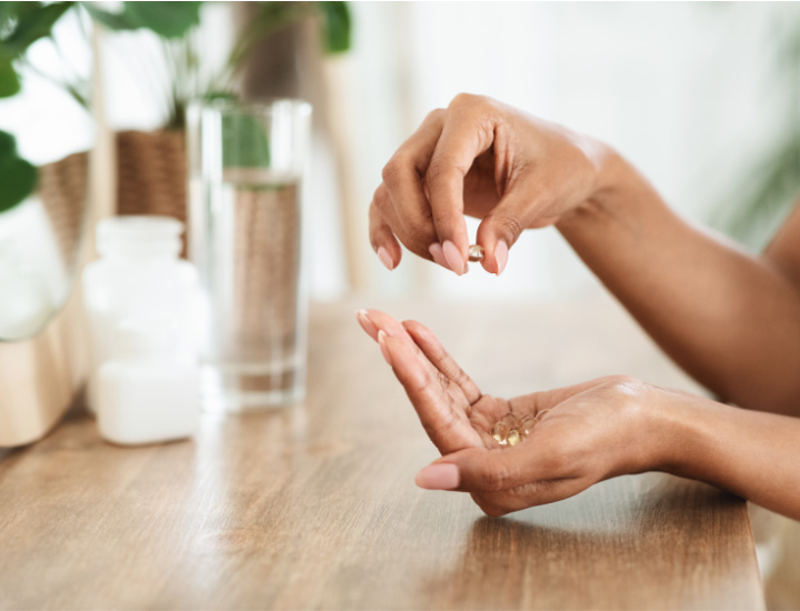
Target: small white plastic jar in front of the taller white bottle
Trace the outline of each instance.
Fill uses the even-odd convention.
[[[117,355],[97,373],[100,435],[124,445],[191,437],[200,410],[200,369],[174,348],[174,327],[164,319],[119,325]]]

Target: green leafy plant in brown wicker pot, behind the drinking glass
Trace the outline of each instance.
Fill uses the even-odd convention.
[[[181,7],[179,8],[178,4]],[[187,7],[183,7],[183,6]],[[117,211],[169,214],[186,221],[184,126],[187,106],[194,99],[236,98],[234,81],[253,48],[291,23],[317,18],[323,49],[340,52],[350,44],[350,14],[346,2],[254,2],[237,34],[227,61],[203,76],[197,33],[201,2],[123,2],[120,13],[87,7],[92,17],[113,31],[147,28],[160,37],[170,86],[160,94],[169,109],[161,129],[117,133]],[[147,6],[147,7],[142,7]]]

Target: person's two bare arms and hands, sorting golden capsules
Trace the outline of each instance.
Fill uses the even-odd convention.
[[[464,214],[481,219],[473,248]],[[400,147],[370,207],[389,269],[402,243],[458,274],[468,260],[500,273],[522,230],[552,224],[721,401],[622,377],[488,397],[430,331],[369,311],[362,327],[443,454],[418,484],[468,491],[500,515],[663,470],[800,520],[800,206],[752,254],[683,220],[608,146],[461,94]]]

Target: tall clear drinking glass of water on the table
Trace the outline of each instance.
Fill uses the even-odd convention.
[[[189,257],[203,293],[207,409],[249,411],[303,397],[310,118],[299,100],[189,108]]]

